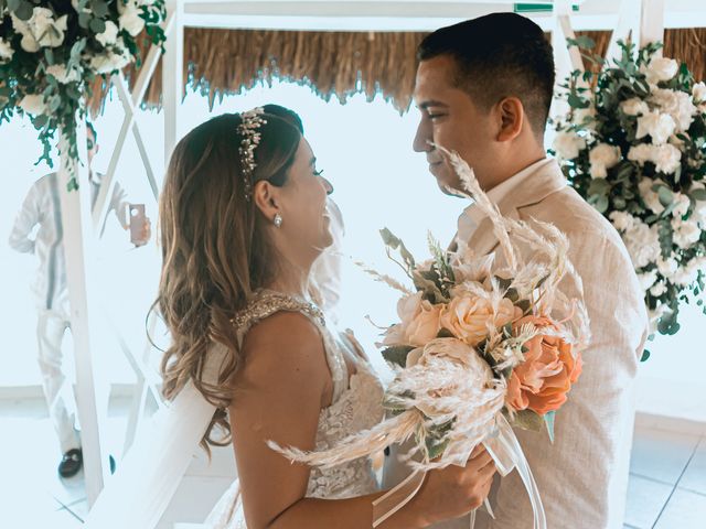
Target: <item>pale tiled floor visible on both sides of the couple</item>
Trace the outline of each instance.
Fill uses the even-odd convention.
[[[125,413],[119,410],[108,421],[116,455],[125,424]],[[706,430],[677,433],[660,428],[645,421],[635,428],[624,529],[704,529]],[[0,527],[81,527],[87,510],[83,474],[64,481],[56,476],[58,454],[42,403],[1,406],[0,432],[0,453],[4,456]],[[211,465],[203,456],[195,458],[159,529],[203,520],[232,482],[233,468],[229,449],[215,451]]]

